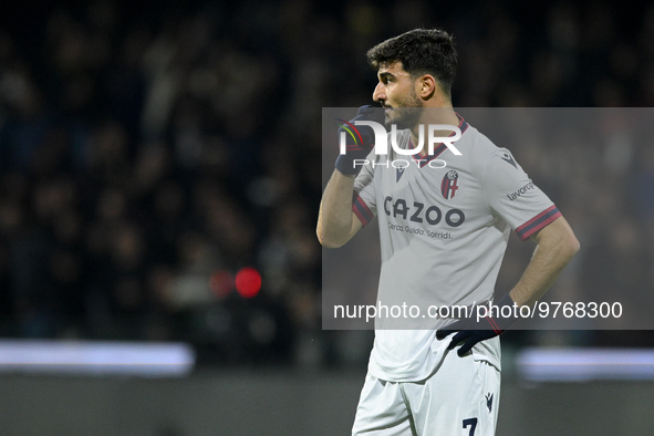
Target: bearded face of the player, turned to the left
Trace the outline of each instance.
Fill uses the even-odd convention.
[[[423,101],[417,96],[415,80],[404,71],[402,62],[380,66],[380,83],[373,100],[386,108],[386,125],[413,128],[421,118]]]

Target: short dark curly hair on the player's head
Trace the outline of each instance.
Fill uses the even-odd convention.
[[[391,38],[367,51],[367,61],[375,69],[402,62],[412,77],[432,74],[451,97],[457,55],[454,39],[440,29],[414,29]]]

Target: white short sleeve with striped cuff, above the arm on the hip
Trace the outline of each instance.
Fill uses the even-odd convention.
[[[488,206],[521,240],[527,240],[561,216],[552,200],[533,184],[506,148],[498,148],[488,158],[484,191]]]

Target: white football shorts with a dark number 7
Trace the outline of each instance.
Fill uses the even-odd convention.
[[[456,350],[422,382],[385,382],[368,373],[352,435],[492,436],[499,394],[500,372]]]

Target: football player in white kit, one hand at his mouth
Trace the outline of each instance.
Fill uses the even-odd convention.
[[[457,54],[451,37],[443,30],[413,30],[374,46],[367,59],[378,77],[373,100],[385,108],[386,125],[397,126],[401,148],[416,148],[419,129],[429,124],[456,126],[461,135],[454,147],[437,144],[432,154],[425,146],[413,156],[392,147],[387,155],[368,155],[372,129],[360,125],[362,141],[349,139],[325,187],[320,242],[341,247],[377,216],[378,302],[532,305],[579,250],[579,241],[510,152],[454,111]],[[375,111],[382,110],[364,106],[355,121],[374,121]],[[437,136],[454,132],[443,129]],[[401,158],[413,162],[393,165]],[[511,229],[536,241],[536,251],[518,283],[495,294]],[[498,336],[516,321],[500,313],[506,312],[480,320],[442,319],[433,328],[416,329],[376,320],[352,434],[494,435]]]

